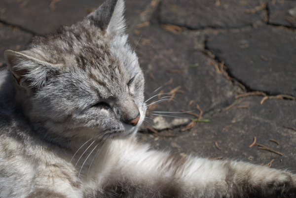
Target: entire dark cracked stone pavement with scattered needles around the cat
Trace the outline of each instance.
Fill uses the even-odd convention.
[[[1,0],[0,66],[103,1]],[[161,94],[142,141],[296,170],[296,0],[126,0],[126,17],[147,99]]]

